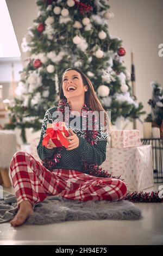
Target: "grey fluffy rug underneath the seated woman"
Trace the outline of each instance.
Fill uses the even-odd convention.
[[[15,195],[5,194],[0,200],[0,223],[12,220],[16,212]],[[35,205],[34,215],[26,220],[26,224],[42,225],[82,220],[140,220],[141,218],[140,209],[127,200],[80,202],[63,199],[60,196],[50,196]]]

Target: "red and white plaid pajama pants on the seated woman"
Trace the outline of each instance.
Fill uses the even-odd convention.
[[[34,206],[49,195],[80,201],[118,201],[127,193],[126,185],[119,179],[97,178],[78,170],[49,171],[24,151],[17,151],[12,157],[10,174],[18,207],[23,200]]]

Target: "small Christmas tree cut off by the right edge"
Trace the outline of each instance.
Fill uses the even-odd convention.
[[[159,83],[152,82],[152,99],[148,101],[151,106],[151,113],[146,121],[151,121],[153,126],[160,127],[161,137],[163,136],[163,91]]]

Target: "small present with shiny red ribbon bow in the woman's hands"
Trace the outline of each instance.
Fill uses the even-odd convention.
[[[53,122],[52,124],[47,124],[46,136],[42,140],[42,145],[47,147],[49,139],[52,139],[53,147],[62,147],[65,148],[70,145],[67,138],[70,136],[68,128],[66,127],[65,122]]]

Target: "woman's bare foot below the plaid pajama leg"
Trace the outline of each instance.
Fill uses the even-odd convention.
[[[21,225],[22,223],[24,223],[24,221],[26,221],[27,217],[33,214],[34,214],[34,211],[33,211],[32,204],[30,204],[29,201],[24,200],[22,203],[20,203],[20,209],[18,210],[16,216],[10,222],[10,224],[13,227]]]

